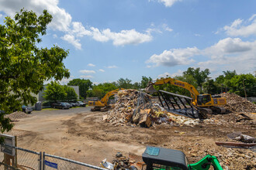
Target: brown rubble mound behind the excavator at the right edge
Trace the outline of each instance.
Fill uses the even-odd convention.
[[[235,93],[222,93],[221,97],[227,99],[224,107],[232,112],[256,112],[256,104],[238,96]]]

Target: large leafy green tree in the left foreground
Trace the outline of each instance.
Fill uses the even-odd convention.
[[[50,49],[38,47],[41,37],[47,33],[52,16],[46,11],[37,16],[32,11],[21,10],[15,18],[5,17],[0,25],[0,128],[12,128],[4,114],[12,113],[22,104],[35,104],[43,88],[43,82],[69,77],[63,59],[68,51],[58,46]]]

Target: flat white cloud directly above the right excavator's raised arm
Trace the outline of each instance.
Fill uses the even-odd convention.
[[[186,65],[194,62],[191,57],[199,53],[200,50],[196,47],[164,50],[164,52],[159,55],[154,54],[153,56],[150,56],[150,59],[148,59],[146,63],[152,63],[154,66]]]

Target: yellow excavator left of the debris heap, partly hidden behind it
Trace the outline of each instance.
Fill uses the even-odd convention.
[[[119,90],[124,90],[123,88],[116,89],[109,91],[106,93],[104,97],[102,97],[102,100],[97,101],[88,101],[88,106],[93,106],[91,111],[107,111],[109,110],[110,106],[108,104],[109,97],[112,97],[113,95],[117,94]]]

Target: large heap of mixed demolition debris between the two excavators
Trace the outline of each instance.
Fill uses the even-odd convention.
[[[199,120],[171,114],[159,104],[151,102],[147,93],[138,90],[120,90],[116,104],[106,117],[110,124],[140,124],[150,127],[153,124],[199,124]]]

